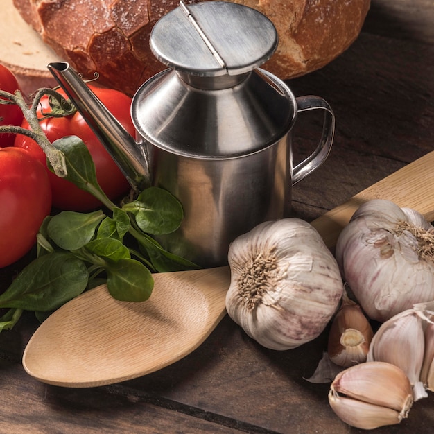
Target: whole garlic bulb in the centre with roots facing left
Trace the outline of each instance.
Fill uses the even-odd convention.
[[[304,220],[261,223],[229,247],[229,316],[261,345],[291,349],[316,338],[343,292],[338,264]]]

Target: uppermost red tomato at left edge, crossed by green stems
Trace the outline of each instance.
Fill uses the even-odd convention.
[[[8,68],[0,64],[0,89],[13,94],[19,85],[17,79]],[[17,105],[0,104],[0,125],[21,125],[23,112]],[[0,134],[0,147],[12,146],[15,134]]]

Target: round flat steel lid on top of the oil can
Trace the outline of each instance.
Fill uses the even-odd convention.
[[[158,60],[197,76],[252,71],[272,56],[277,42],[276,28],[265,15],[225,1],[181,1],[157,21],[150,35]]]

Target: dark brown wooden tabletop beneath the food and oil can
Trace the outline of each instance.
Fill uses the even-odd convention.
[[[358,40],[327,67],[290,82],[297,96],[324,97],[337,119],[329,159],[293,190],[295,215],[312,220],[433,150],[433,23],[433,0],[372,0]],[[319,134],[320,121],[305,116],[297,125],[297,158]],[[2,290],[25,262],[0,271]],[[29,313],[0,333],[0,433],[365,432],[334,415],[329,385],[304,380],[326,333],[297,349],[271,351],[226,317],[196,351],[159,372],[68,389],[24,372],[21,356],[36,327]],[[422,434],[433,426],[431,394],[399,426],[375,432]]]

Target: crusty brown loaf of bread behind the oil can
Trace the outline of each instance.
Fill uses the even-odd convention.
[[[178,0],[13,0],[21,17],[59,58],[132,95],[165,68],[149,48],[155,22]],[[356,39],[370,0],[234,0],[266,15],[279,46],[263,65],[281,79],[331,62]],[[192,1],[185,1],[186,4]]]

